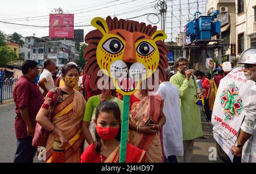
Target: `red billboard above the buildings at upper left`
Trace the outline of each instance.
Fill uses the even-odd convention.
[[[49,14],[49,38],[74,38],[74,14]]]

